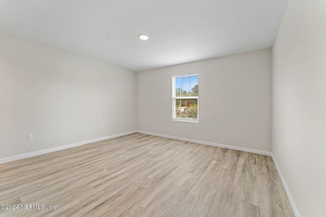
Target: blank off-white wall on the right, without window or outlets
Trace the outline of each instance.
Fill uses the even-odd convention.
[[[324,0],[290,0],[286,9],[273,46],[274,140],[274,156],[300,214],[325,216]]]

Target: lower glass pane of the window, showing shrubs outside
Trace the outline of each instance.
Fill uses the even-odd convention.
[[[198,119],[198,99],[175,100],[175,118]]]

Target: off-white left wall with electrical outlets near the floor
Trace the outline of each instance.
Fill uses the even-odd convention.
[[[135,83],[135,72],[0,33],[0,158],[135,130]]]

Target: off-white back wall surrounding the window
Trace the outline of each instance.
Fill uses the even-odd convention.
[[[198,123],[172,120],[172,76],[188,73],[199,73]],[[137,99],[138,130],[271,150],[271,49],[138,72]]]

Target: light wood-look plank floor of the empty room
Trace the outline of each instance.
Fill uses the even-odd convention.
[[[293,216],[273,161],[140,133],[0,164],[5,216]]]

